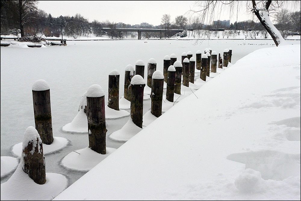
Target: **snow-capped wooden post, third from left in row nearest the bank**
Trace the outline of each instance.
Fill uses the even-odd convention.
[[[143,92],[145,82],[141,75],[135,75],[131,81],[131,118],[134,124],[142,128],[143,118]]]

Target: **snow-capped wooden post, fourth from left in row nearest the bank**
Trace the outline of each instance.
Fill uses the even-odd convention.
[[[162,98],[164,84],[163,73],[159,70],[155,71],[152,80],[153,81],[151,84],[151,113],[155,117],[160,117],[162,115]]]

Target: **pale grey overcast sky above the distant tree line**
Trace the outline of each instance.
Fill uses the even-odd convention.
[[[52,17],[60,15],[70,17],[81,14],[90,22],[109,20],[125,24],[140,24],[146,22],[154,26],[161,24],[163,14],[170,14],[175,21],[178,15],[185,15],[190,9],[196,10],[195,1],[39,1],[38,8],[50,13]],[[253,14],[247,14],[245,8],[240,13],[229,17],[228,11],[221,11],[214,20],[229,20],[230,23],[252,19]],[[255,18],[256,19],[256,18]],[[211,24],[212,21],[205,21]]]

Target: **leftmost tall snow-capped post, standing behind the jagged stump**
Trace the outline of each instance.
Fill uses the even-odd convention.
[[[53,142],[50,88],[45,80],[37,80],[33,83],[32,90],[36,130],[42,143],[50,145]]]

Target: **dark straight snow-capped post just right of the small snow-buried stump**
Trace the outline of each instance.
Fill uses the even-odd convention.
[[[108,107],[119,110],[119,72],[117,70],[109,74]]]

